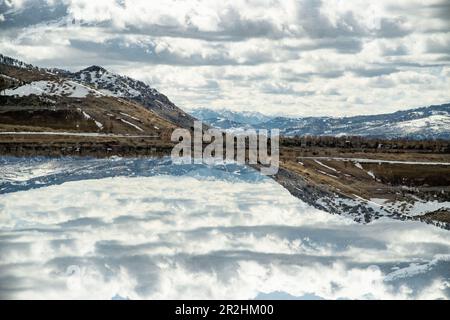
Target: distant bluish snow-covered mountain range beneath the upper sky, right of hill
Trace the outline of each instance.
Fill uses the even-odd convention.
[[[261,113],[197,109],[191,114],[222,129],[280,129],[286,136],[329,135],[450,139],[450,104],[354,117],[270,117]]]

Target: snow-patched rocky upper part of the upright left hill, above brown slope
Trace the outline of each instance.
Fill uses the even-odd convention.
[[[193,126],[192,116],[178,108],[165,95],[142,81],[91,66],[78,72],[38,68],[0,54],[0,65],[24,69],[20,79],[0,73],[1,94],[9,96],[48,95],[83,98],[88,95],[110,96],[139,103],[161,118],[184,128]],[[13,72],[14,73],[14,72]],[[11,75],[11,74],[10,74]],[[25,80],[24,80],[25,79]]]

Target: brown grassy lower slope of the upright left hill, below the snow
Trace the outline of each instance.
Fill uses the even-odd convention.
[[[100,132],[167,138],[174,128],[152,111],[112,97],[0,97],[0,131]]]

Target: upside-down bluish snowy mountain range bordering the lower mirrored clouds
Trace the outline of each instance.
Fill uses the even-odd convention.
[[[256,170],[225,165],[173,165],[171,158],[15,158],[0,157],[0,194],[30,190],[68,181],[119,176],[192,176],[199,179],[256,182],[267,179]]]

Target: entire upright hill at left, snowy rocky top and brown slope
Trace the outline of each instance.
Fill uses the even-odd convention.
[[[158,100],[164,97],[142,82],[101,67],[71,73],[0,55],[2,134],[167,137],[166,130],[172,132],[178,123],[163,114],[176,118],[177,107],[167,98],[159,108],[139,103],[149,96]],[[39,144],[42,147],[42,141]]]

